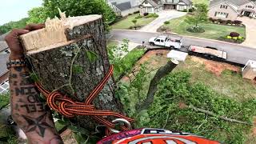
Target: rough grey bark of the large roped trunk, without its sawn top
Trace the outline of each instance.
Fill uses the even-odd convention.
[[[84,38],[86,34],[90,34],[91,37]],[[73,30],[68,29],[66,30],[66,37],[68,40],[76,40],[76,42],[30,54],[27,57],[30,59],[32,70],[37,74],[46,90],[58,89],[70,98],[84,102],[87,95],[101,82],[110,68],[102,19],[82,26],[75,26]],[[81,50],[78,51],[78,49]],[[87,57],[88,50],[98,55],[96,60],[91,61]],[[76,54],[78,55],[75,56]],[[70,78],[70,67],[73,59],[73,70],[79,69],[80,72],[75,73],[74,70]],[[69,82],[72,87],[66,85]],[[122,113],[121,103],[117,98],[114,98],[113,77],[94,100],[94,106],[99,110],[113,110]],[[94,129],[98,125],[94,119],[87,116],[77,116],[74,118],[74,122],[86,129]]]

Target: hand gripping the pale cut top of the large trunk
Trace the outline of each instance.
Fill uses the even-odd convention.
[[[33,30],[42,29],[44,24],[30,24],[24,29],[14,29],[6,36],[6,42],[10,48],[10,59],[21,59],[24,58],[24,50],[22,44],[19,41],[19,36],[22,34],[29,33]]]

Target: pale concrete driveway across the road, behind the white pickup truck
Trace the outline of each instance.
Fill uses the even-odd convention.
[[[148,25],[143,26],[138,31],[143,32],[157,32],[158,28],[163,25],[164,22],[169,21],[173,18],[179,18],[186,15],[185,12],[180,12],[176,10],[162,10],[157,13],[159,15],[153,22],[150,22]]]

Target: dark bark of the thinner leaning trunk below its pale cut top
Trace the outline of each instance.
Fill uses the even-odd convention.
[[[150,88],[146,94],[146,99],[136,106],[136,110],[139,112],[141,110],[147,110],[150,104],[154,102],[154,94],[158,91],[158,82],[169,74],[178,65],[178,62],[169,61],[165,66],[160,67],[154,78],[150,81]]]

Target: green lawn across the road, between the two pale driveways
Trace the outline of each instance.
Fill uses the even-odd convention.
[[[202,26],[204,33],[190,33],[186,29],[192,25],[184,22],[186,16],[181,18],[174,18],[170,20],[170,24],[168,24],[168,29],[173,33],[182,34],[182,35],[190,35],[200,38],[210,38],[210,39],[218,39],[221,36],[226,36],[230,34],[230,32],[238,32],[242,37],[246,38],[246,28],[245,27],[237,27],[237,26],[222,26],[213,24],[210,22],[200,23],[198,26]]]

